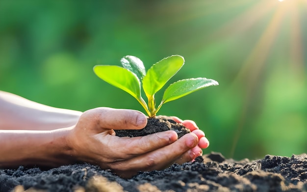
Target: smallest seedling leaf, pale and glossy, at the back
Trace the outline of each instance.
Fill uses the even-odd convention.
[[[124,68],[134,73],[139,80],[142,80],[146,75],[145,67],[141,59],[136,56],[127,55],[121,59]]]

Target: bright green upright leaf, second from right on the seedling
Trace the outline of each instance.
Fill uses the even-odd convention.
[[[182,67],[184,58],[172,55],[155,63],[143,78],[143,89],[147,97],[154,95],[168,82]]]

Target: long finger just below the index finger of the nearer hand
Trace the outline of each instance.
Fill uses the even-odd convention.
[[[182,154],[197,146],[197,143],[198,137],[193,133],[189,133],[181,137],[178,141],[150,153],[132,158],[128,161],[116,162],[111,165],[111,168],[118,173],[137,170],[159,170],[173,164]]]

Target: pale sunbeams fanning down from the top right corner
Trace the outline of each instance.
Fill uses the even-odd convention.
[[[283,3],[278,3],[278,1],[283,1]],[[266,20],[266,25],[263,27],[262,32],[258,33],[259,35],[255,38],[253,49],[246,55],[242,68],[232,82],[233,84],[237,84],[237,82],[244,80],[246,74],[249,74],[249,71],[253,71],[249,76],[249,81],[246,82],[249,84],[247,86],[249,87],[249,90],[247,90],[247,98],[252,98],[250,95],[254,93],[253,90],[255,90],[259,82],[258,80],[263,71],[262,69],[267,63],[267,60],[270,59],[270,53],[273,52],[273,49],[276,49],[276,43],[280,41],[281,38],[290,41],[289,55],[291,58],[289,59],[291,59],[292,62],[289,67],[293,69],[296,68],[298,71],[305,71],[304,63],[306,60],[302,51],[304,50],[304,45],[302,44],[304,38],[302,33],[303,17],[301,15],[301,10],[306,8],[304,6],[306,0],[278,1],[261,0],[253,7],[246,9],[241,14],[232,18],[228,24],[220,28],[220,31],[216,31],[217,33],[235,31],[244,34],[254,25]],[[270,15],[270,17],[268,17],[268,15]],[[237,27],[233,29],[233,26]],[[241,119],[245,118],[249,102],[253,101],[249,99],[245,101]],[[237,134],[231,149],[231,155],[234,153],[236,143],[242,132],[242,125],[238,125]]]

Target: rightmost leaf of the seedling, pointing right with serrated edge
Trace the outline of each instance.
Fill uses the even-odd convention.
[[[179,80],[178,82],[174,82],[167,87],[167,89],[164,91],[162,102],[166,103],[173,101],[199,89],[218,84],[218,82],[206,78]]]

